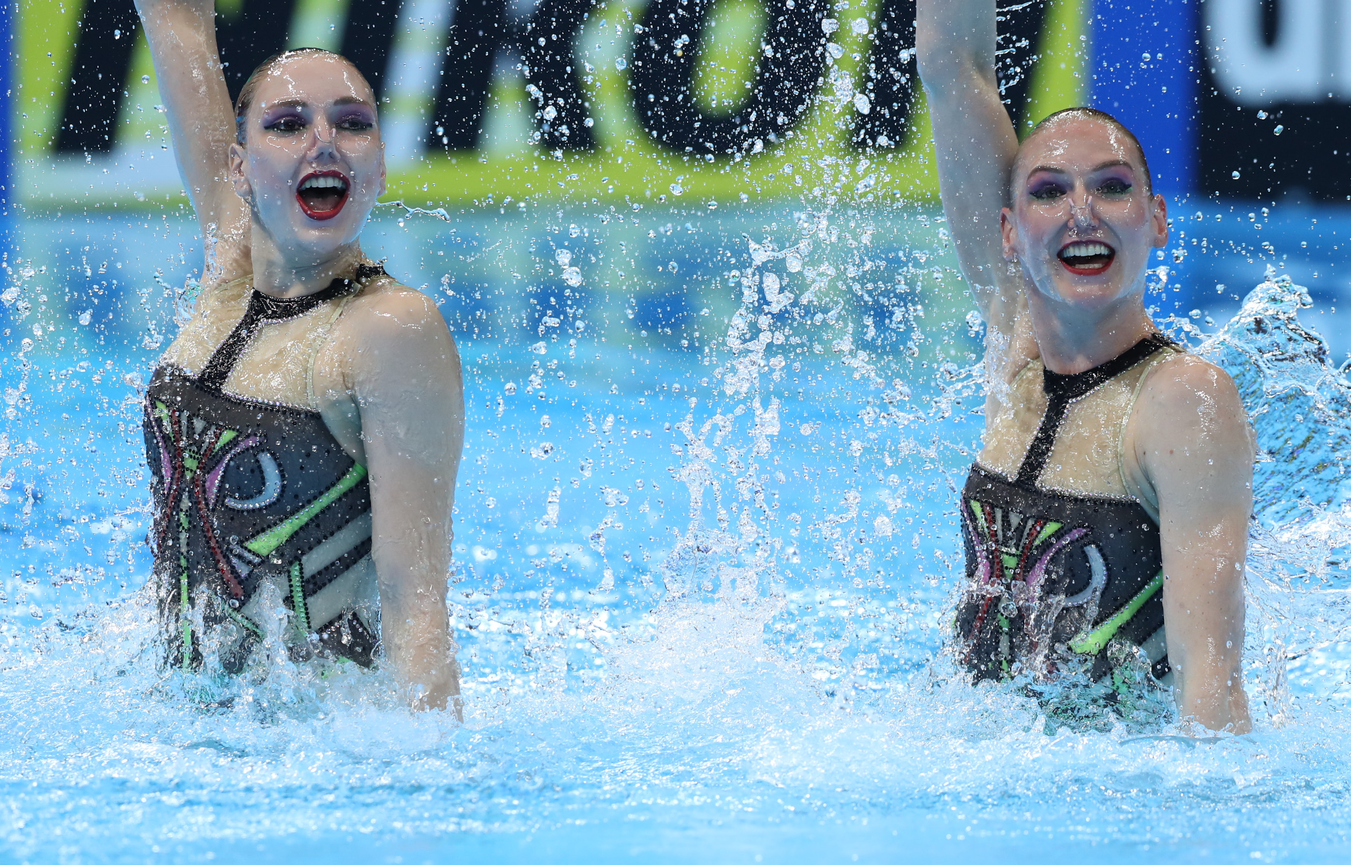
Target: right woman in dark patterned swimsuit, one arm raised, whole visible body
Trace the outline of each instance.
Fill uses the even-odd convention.
[[[1169,224],[1139,141],[1071,108],[1020,145],[994,43],[994,0],[919,1],[943,209],[986,324],[959,657],[977,680],[1081,669],[1108,700],[1156,680],[1246,733],[1247,415],[1144,311]]]

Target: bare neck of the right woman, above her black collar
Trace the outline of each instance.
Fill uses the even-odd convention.
[[[1100,366],[1152,334],[1144,295],[1135,292],[1105,310],[1084,311],[1028,291],[1032,334],[1042,364],[1052,373],[1073,374]]]

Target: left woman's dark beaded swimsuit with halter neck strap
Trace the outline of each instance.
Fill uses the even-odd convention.
[[[382,273],[363,266],[357,280],[334,280],[305,297],[253,289],[243,318],[200,374],[172,365],[155,370],[143,426],[155,504],[154,580],[170,664],[200,666],[205,638],[226,672],[243,669],[266,633],[259,591],[266,584],[292,614],[293,658],[328,653],[372,664],[378,593],[366,468],[317,411],[235,396],[224,384],[263,324],[336,300],[327,332],[361,282]]]

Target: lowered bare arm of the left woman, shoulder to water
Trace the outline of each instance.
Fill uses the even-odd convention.
[[[381,292],[353,312],[381,643],[412,704],[444,708],[459,693],[446,612],[465,439],[459,353],[436,307],[417,292]]]

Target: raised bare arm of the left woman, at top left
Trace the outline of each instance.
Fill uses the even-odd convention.
[[[249,208],[227,170],[235,112],[216,49],[215,1],[136,0],[136,11],[169,109],[178,174],[207,245],[203,284],[246,276],[251,272]]]

